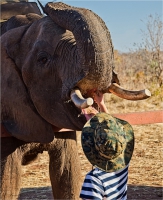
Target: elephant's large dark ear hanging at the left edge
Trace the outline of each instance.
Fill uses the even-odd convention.
[[[14,51],[25,33],[25,27],[8,31],[1,37],[2,45],[2,123],[14,137],[27,142],[48,143],[54,139],[52,125],[34,107],[21,71],[16,66]],[[14,37],[13,37],[14,35]]]

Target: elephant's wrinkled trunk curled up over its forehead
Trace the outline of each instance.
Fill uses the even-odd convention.
[[[75,84],[82,94],[92,88],[108,88],[112,81],[113,46],[105,23],[90,10],[61,2],[46,4],[45,11],[75,37],[76,62],[80,70]]]

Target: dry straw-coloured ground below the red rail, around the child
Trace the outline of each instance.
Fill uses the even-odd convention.
[[[129,168],[128,199],[161,200],[163,189],[163,124],[135,125],[135,149]],[[77,132],[82,178],[92,166],[83,154]],[[19,200],[52,200],[48,175],[48,154],[43,152],[37,161],[23,166]]]

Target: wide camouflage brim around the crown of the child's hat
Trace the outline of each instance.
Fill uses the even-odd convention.
[[[100,115],[100,113],[98,114]],[[96,116],[98,116],[98,114],[96,114]],[[93,119],[94,117],[92,117],[91,119]],[[93,166],[96,166],[99,169],[104,170],[106,172],[117,171],[127,166],[131,160],[134,150],[134,132],[132,126],[128,122],[114,117],[116,122],[122,124],[124,127],[124,131],[126,133],[126,142],[122,153],[116,158],[109,160],[101,156],[99,151],[95,147],[95,129],[92,128],[90,125],[91,119],[84,125],[81,134],[82,148],[89,162]]]

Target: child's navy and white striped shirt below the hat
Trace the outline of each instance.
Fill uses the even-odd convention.
[[[86,175],[80,198],[126,200],[127,180],[128,166],[110,173],[95,168]]]

